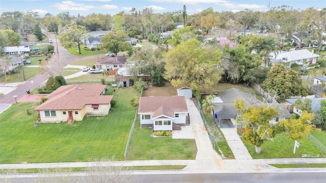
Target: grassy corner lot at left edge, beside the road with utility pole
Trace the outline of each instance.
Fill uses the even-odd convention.
[[[41,68],[24,67],[26,81],[36,76],[40,72],[41,72]],[[5,75],[0,77],[0,83],[13,83],[13,82],[22,82],[22,81],[24,81],[24,78],[21,69],[15,74],[10,74],[10,75],[7,74],[7,81]]]

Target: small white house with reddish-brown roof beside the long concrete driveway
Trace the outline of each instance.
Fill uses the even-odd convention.
[[[189,124],[185,97],[140,97],[138,114],[141,128],[149,127],[153,131],[181,130],[182,126]]]

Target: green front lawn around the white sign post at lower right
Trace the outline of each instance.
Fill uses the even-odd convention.
[[[256,153],[254,145],[243,139],[241,140],[253,159],[302,158],[302,155],[325,157],[323,151],[316,147],[307,137],[297,140],[300,147],[295,150],[295,154],[293,154],[294,140],[290,140],[287,133],[276,135],[273,141],[265,141],[260,154]]]

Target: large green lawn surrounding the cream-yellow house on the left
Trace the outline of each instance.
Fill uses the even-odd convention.
[[[108,87],[109,90],[111,87]],[[0,114],[0,163],[85,162],[115,157],[124,150],[135,115],[129,104],[135,89],[116,89],[117,101],[107,116],[85,117],[73,125],[39,124],[34,127],[36,103],[17,103]],[[28,108],[32,115],[27,115]]]

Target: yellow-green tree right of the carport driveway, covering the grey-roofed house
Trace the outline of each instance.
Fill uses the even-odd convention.
[[[243,140],[255,145],[256,153],[260,154],[261,145],[267,140],[273,140],[277,134],[277,126],[269,123],[279,114],[277,106],[271,106],[266,102],[258,106],[246,106],[242,99],[237,99],[235,107],[239,113],[237,121],[246,129],[242,134]]]

